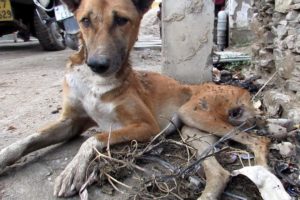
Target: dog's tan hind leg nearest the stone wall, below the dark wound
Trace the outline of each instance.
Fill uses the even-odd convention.
[[[187,126],[222,137],[232,132],[234,126],[221,120],[217,113],[195,109],[196,103],[189,101],[179,109],[179,116]],[[231,135],[232,140],[246,145],[255,155],[256,164],[267,166],[269,139],[246,132],[237,131]]]

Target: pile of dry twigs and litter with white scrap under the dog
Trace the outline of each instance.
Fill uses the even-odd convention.
[[[171,136],[161,132],[148,143],[132,141],[129,145],[108,146],[106,153],[97,151],[97,157],[90,164],[91,175],[80,191],[81,200],[88,199],[87,186],[95,182],[102,192],[121,192],[128,199],[197,199],[206,183],[201,163],[210,156],[216,156],[231,172],[231,180],[221,199],[290,200],[289,196],[300,197],[296,156],[299,127],[292,120],[259,115],[256,127],[247,130],[272,139],[268,158],[270,171],[254,166],[252,152],[229,140],[235,131],[197,155],[191,142],[201,141],[203,136],[186,137],[177,129]],[[127,183],[127,178],[134,179],[134,183]],[[270,198],[265,198],[268,196]]]

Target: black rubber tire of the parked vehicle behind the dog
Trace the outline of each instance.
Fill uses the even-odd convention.
[[[41,17],[47,17],[47,13],[39,10]],[[64,50],[66,48],[66,44],[64,41],[64,38],[60,40],[55,35],[60,34],[58,32],[55,32],[56,30],[51,29],[49,26],[41,22],[38,14],[36,11],[34,12],[34,28],[35,28],[35,34],[37,39],[39,40],[41,46],[46,51],[59,51]],[[53,22],[55,23],[55,22]],[[51,24],[52,26],[55,26],[56,24]],[[62,36],[61,36],[62,37]]]

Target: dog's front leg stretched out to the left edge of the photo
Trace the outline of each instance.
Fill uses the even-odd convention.
[[[81,123],[79,123],[79,121]],[[47,125],[38,133],[19,140],[0,151],[0,174],[7,166],[14,164],[22,156],[35,150],[57,144],[80,134],[88,125],[87,120],[62,118]]]

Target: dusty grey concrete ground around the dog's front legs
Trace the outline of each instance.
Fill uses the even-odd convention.
[[[64,66],[70,54],[71,50],[45,52],[37,41],[0,41],[0,149],[59,116]],[[160,62],[158,50],[132,53],[133,66],[138,69],[160,71]],[[0,200],[56,199],[54,180],[84,140],[81,137],[20,160],[0,176]],[[122,197],[104,195],[94,187],[90,199]]]

